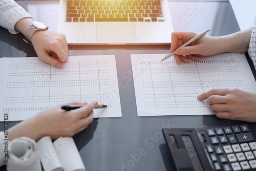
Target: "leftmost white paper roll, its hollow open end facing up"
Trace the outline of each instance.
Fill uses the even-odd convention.
[[[10,142],[8,171],[41,171],[38,148],[34,140],[20,137]]]

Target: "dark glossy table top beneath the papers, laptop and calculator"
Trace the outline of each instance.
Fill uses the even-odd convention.
[[[28,3],[26,3],[28,2]],[[23,5],[40,5],[57,1],[23,1]],[[228,1],[170,1],[169,8],[175,31],[202,32],[220,36],[239,31],[237,20]],[[47,11],[45,11],[47,12]],[[32,14],[33,16],[33,14]],[[49,21],[50,22],[50,21]],[[53,22],[53,21],[51,21]],[[56,22],[55,22],[56,23]],[[26,44],[22,34],[12,35],[0,27],[0,57],[37,56]],[[122,117],[94,118],[88,129],[73,138],[86,170],[173,170],[170,155],[161,133],[162,127],[202,127],[237,123],[205,116],[138,117],[131,54],[169,53],[170,45],[69,46],[70,55],[115,55]],[[18,121],[9,122],[9,127]],[[253,127],[255,126],[252,124]],[[0,123],[0,130],[4,129]],[[135,158],[144,150],[144,155]],[[0,169],[4,169],[1,167]]]

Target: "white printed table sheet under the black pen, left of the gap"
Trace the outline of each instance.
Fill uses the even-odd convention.
[[[37,57],[0,58],[0,68],[0,111],[9,121],[72,101],[108,105],[95,118],[122,116],[115,55],[70,56],[62,69]]]

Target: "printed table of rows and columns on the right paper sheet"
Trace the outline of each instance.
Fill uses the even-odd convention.
[[[181,67],[176,61],[140,61],[140,66],[143,66],[140,68],[140,74],[143,78],[142,101],[145,108],[209,108],[205,101],[197,100],[198,95],[215,88],[244,86],[240,79],[223,76],[223,73],[235,75],[239,72],[236,65],[231,65],[233,62],[235,61],[190,61],[193,65]],[[209,63],[211,65],[208,65]]]

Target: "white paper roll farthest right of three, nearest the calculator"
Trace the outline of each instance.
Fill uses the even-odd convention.
[[[71,137],[58,138],[53,142],[64,171],[84,171],[81,156]]]

